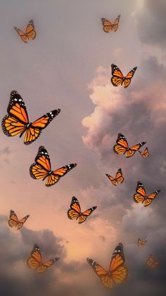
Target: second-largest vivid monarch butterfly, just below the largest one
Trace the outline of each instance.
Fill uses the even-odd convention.
[[[49,154],[45,147],[40,146],[37,156],[35,157],[35,163],[30,166],[30,176],[34,179],[42,178],[42,181],[46,178],[45,186],[49,187],[57,183],[61,177],[75,168],[76,165],[77,164],[68,164],[56,171],[52,171]]]

